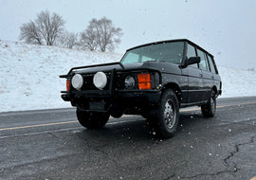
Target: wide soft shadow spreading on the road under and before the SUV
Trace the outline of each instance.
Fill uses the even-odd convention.
[[[159,138],[149,129],[147,120],[138,117],[134,121],[121,121],[109,123],[101,130],[78,129],[64,138],[65,147],[73,147],[76,153],[113,156],[115,154],[145,153],[146,150],[156,152],[158,148],[174,149],[183,144],[192,142],[194,138],[204,136],[206,124],[212,123],[213,118],[206,119],[201,114],[180,115],[180,124],[174,137],[169,139]],[[117,120],[117,119],[115,119]],[[192,134],[192,135],[191,135]],[[69,149],[69,148],[68,148]],[[97,154],[95,154],[97,155]]]

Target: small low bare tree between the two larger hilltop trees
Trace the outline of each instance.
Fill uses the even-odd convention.
[[[58,45],[73,48],[75,45],[78,45],[78,34],[64,30],[58,38]]]

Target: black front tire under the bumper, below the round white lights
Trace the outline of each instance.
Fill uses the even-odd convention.
[[[83,112],[77,110],[77,117],[80,124],[87,129],[101,129],[107,123],[109,115],[106,113]]]

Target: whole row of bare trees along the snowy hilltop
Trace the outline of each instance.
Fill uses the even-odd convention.
[[[63,17],[57,13],[41,11],[33,21],[20,27],[19,39],[33,45],[59,45],[105,52],[113,51],[122,36],[121,28],[115,27],[106,17],[93,18],[81,33],[67,31],[64,24]]]

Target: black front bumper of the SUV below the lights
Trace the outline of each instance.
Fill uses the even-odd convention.
[[[73,106],[81,111],[111,112],[125,109],[143,110],[148,106],[155,106],[161,97],[160,90],[148,91],[116,91],[114,94],[100,91],[101,93],[90,91],[63,92],[62,99],[70,101]],[[92,104],[99,103],[99,109]],[[103,106],[103,108],[102,108]]]

